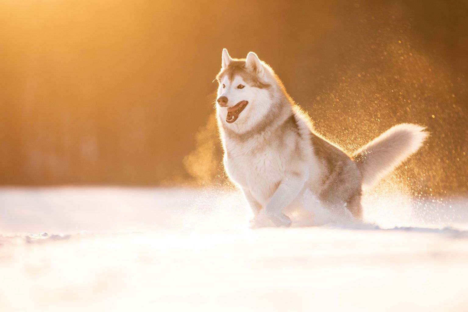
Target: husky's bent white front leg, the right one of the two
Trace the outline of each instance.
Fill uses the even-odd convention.
[[[304,187],[305,179],[300,174],[294,174],[281,181],[270,201],[265,206],[266,217],[276,226],[290,226],[291,219],[282,213],[283,209],[299,195]]]

